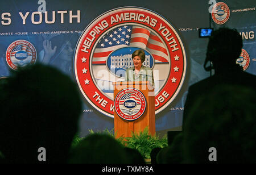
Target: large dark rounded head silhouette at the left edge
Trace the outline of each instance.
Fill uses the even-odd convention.
[[[76,84],[47,65],[12,72],[0,95],[0,150],[5,163],[67,163],[78,128]],[[46,161],[39,161],[40,147]]]

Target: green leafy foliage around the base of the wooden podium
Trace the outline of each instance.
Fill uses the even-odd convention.
[[[108,134],[115,138],[114,128],[112,130],[108,130],[106,128],[104,131],[97,131],[94,132],[92,129],[89,130],[89,134]],[[76,146],[80,140],[83,138],[79,138],[78,136],[75,137],[73,140],[72,146]],[[139,132],[138,134],[132,133],[131,138],[118,138],[119,143],[121,143],[125,147],[137,149],[144,159],[150,159],[150,152],[152,149],[156,147],[164,148],[167,147],[167,135],[164,135],[162,139],[158,136],[154,135],[151,136],[148,134],[148,128],[146,127],[144,131]]]

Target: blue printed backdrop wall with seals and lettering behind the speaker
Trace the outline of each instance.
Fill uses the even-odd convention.
[[[130,7],[131,10],[130,16],[127,16],[129,19],[126,21],[125,16],[123,16],[123,19],[120,19],[119,22],[113,22],[113,20],[118,20],[114,12],[127,10],[126,7]],[[89,68],[86,68],[86,71],[88,71],[86,73],[90,73],[90,78],[92,78],[92,80],[87,79],[90,81],[88,84],[94,83],[98,90],[105,95],[104,99],[111,101],[113,89],[101,87],[101,78],[97,77],[98,69],[101,69],[101,66],[104,66],[105,69],[107,66],[105,64],[106,60],[103,64],[102,62],[97,63],[97,61],[93,63],[97,44],[100,43],[101,39],[109,36],[108,32],[114,32],[115,28],[123,27],[122,30],[125,30],[126,24],[130,25],[131,31],[135,31],[136,26],[146,28],[152,34],[158,36],[163,43],[163,48],[166,48],[167,51],[167,61],[165,62],[156,59],[156,51],[152,51],[148,45],[146,47],[151,56],[153,55],[154,70],[156,76],[158,76],[156,78],[158,91],[155,92],[155,103],[157,105],[160,102],[160,107],[156,106],[156,132],[181,130],[188,86],[210,76],[210,73],[203,69],[208,39],[199,38],[199,28],[236,28],[243,37],[243,50],[240,59],[238,59],[238,64],[243,66],[244,71],[256,74],[255,7],[256,3],[253,0],[1,1],[0,77],[9,76],[10,70],[15,70],[16,66],[26,66],[35,62],[55,66],[77,82],[77,88],[81,91],[83,99],[83,111],[81,111],[80,120],[81,136],[88,134],[88,129],[94,131],[104,130],[105,128],[112,129],[114,127],[112,114],[108,113],[107,110],[105,112],[102,107],[98,107],[97,105],[102,106],[102,103],[97,104],[93,97],[86,94],[86,91],[94,90],[91,89],[92,87],[86,89],[86,82],[81,85],[79,79],[81,63],[78,62],[82,43],[89,36],[94,23],[101,23],[109,15],[109,19],[112,19],[113,23],[108,22],[106,28],[102,27],[104,23],[101,23],[101,29],[98,29],[98,32],[94,30],[95,40],[92,43],[87,40],[88,45],[89,43],[92,44],[92,47],[90,46],[92,48],[90,57],[86,58],[88,59],[86,61],[89,61]],[[132,12],[135,14],[133,20],[131,20]],[[112,14],[112,17],[115,17],[114,19],[110,18]],[[142,15],[136,17],[137,14]],[[146,14],[150,14],[150,18],[147,19]],[[125,11],[123,15],[125,15]],[[143,22],[139,19],[142,19]],[[168,35],[168,31],[164,30],[163,24],[169,26],[172,35]],[[164,39],[165,36],[166,39]],[[180,52],[177,54],[174,51],[175,45],[172,45],[172,50],[170,50],[171,41],[169,40],[169,45],[166,41],[170,39],[170,36],[174,36],[176,39],[171,40],[173,41],[172,44],[175,44],[175,42],[178,44],[177,47],[179,47]],[[126,39],[129,43],[128,46],[134,47],[132,43],[135,39],[128,40],[129,38],[133,38],[133,35],[128,35]],[[17,43],[17,41],[22,42]],[[150,39],[148,39],[148,42],[150,42]],[[22,47],[18,48],[16,47],[18,45],[26,45],[26,47],[24,49]],[[108,49],[110,47],[112,46],[109,45]],[[137,47],[142,48],[141,45],[137,45]],[[17,49],[19,52],[16,51]],[[20,54],[17,55],[17,53]],[[172,72],[172,68],[175,68],[175,61],[178,61],[178,59],[175,60],[175,56],[180,57],[182,64],[179,65],[179,69]],[[166,74],[160,71],[160,69],[165,68],[164,66],[168,68]],[[109,74],[111,74],[110,72],[109,70]],[[177,75],[180,78],[175,78],[174,73],[180,73]],[[114,80],[117,80],[116,78],[122,80],[122,76],[114,76],[114,78]],[[167,85],[169,81],[170,86]],[[112,80],[108,82],[112,82]],[[170,90],[170,93],[168,93],[168,89],[171,88],[174,88],[173,92]],[[166,101],[163,98],[164,91],[169,94],[169,97],[165,99]]]

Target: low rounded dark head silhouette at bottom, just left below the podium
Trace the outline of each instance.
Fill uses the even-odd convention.
[[[123,145],[107,134],[90,134],[72,149],[71,164],[130,163]]]

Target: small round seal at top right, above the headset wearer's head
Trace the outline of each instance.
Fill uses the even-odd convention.
[[[228,5],[224,2],[216,3],[212,8],[212,19],[217,24],[224,24],[228,21],[230,11]]]

